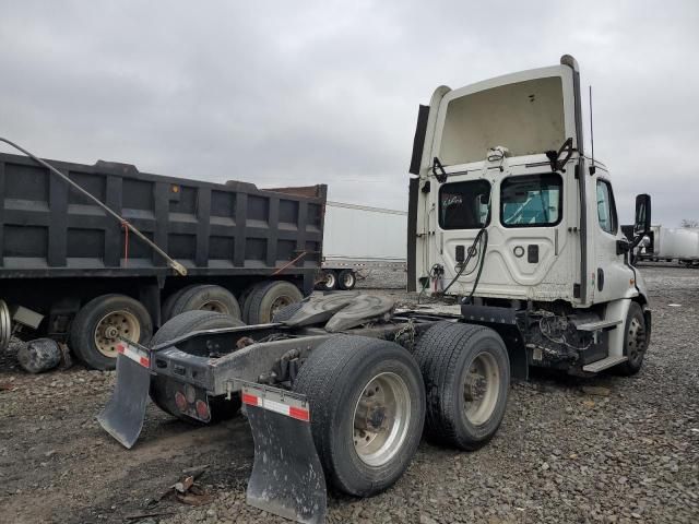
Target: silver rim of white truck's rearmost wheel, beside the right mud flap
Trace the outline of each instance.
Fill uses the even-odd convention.
[[[369,466],[387,464],[401,451],[411,420],[411,396],[395,373],[374,377],[354,408],[352,439],[357,456]]]

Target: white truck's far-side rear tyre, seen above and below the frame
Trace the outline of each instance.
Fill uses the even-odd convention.
[[[216,313],[212,311],[186,311],[167,321],[163,327],[151,340],[151,347],[165,344],[168,341],[178,338],[192,331],[215,330],[221,327],[237,327],[245,325],[242,321],[230,315]],[[151,379],[151,400],[165,413],[185,420],[189,424],[201,425],[203,422],[188,417],[182,414],[175,403],[175,390],[179,382],[162,376],[155,376]],[[211,412],[211,422],[226,420],[235,416],[240,409],[240,396],[232,395],[230,401],[225,396],[210,396],[209,409]]]

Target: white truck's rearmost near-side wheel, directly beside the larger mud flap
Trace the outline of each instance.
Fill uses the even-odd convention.
[[[425,389],[414,357],[395,343],[341,335],[301,366],[294,390],[307,395],[325,478],[370,497],[407,468],[423,432]]]

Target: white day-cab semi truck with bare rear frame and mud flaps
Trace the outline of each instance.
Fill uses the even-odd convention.
[[[629,252],[650,227],[650,199],[637,198],[629,241],[609,170],[583,151],[572,57],[437,88],[419,108],[410,172],[408,286],[459,297],[459,312],[357,291],[254,325],[189,311],[150,347],[121,341],[102,426],[131,448],[149,397],[192,422],[242,405],[254,440],[248,502],[320,523],[329,486],[355,497],[390,488],[424,433],[454,452],[485,445],[510,379],[532,366],[640,369],[651,311]]]

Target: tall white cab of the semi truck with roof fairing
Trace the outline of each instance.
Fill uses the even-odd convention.
[[[438,87],[420,107],[411,172],[413,290],[460,297],[467,321],[517,324],[511,336],[529,365],[550,366],[552,353],[556,367],[583,374],[626,362],[631,302],[647,346],[645,286],[629,263],[633,241],[619,226],[609,170],[583,151],[572,57]],[[637,202],[642,233],[650,198]]]

